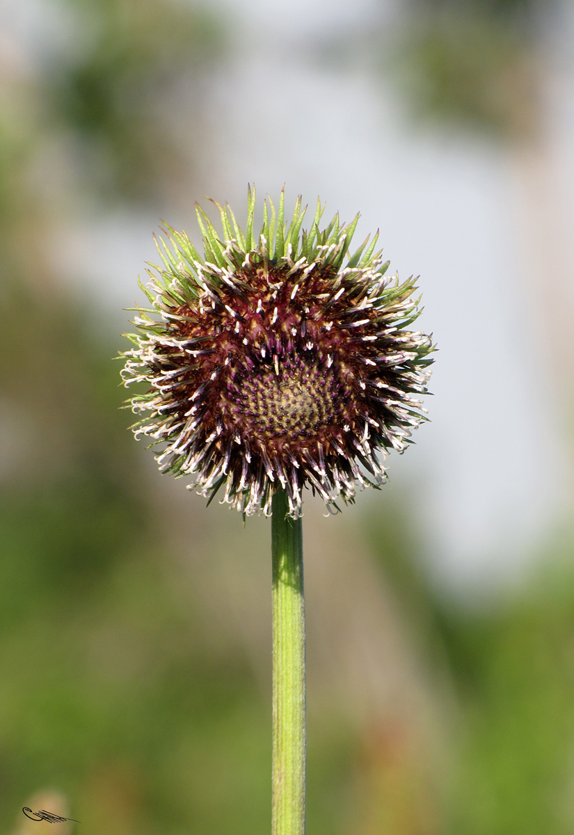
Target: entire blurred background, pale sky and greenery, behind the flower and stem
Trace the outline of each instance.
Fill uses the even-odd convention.
[[[268,828],[269,524],[159,477],[108,357],[160,218],[285,182],[440,349],[390,484],[305,514],[309,831],[574,832],[572,43],[567,0],[0,0],[3,831]]]

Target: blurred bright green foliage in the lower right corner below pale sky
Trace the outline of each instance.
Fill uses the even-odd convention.
[[[404,508],[389,504],[367,524],[430,670],[448,671],[454,696],[444,818],[430,831],[572,832],[571,530],[537,554],[518,587],[464,605],[421,571],[421,543]]]

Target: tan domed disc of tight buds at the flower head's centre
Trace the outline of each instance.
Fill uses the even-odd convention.
[[[336,389],[331,370],[305,362],[287,360],[279,375],[272,367],[259,367],[242,380],[243,421],[256,438],[310,437],[333,422]]]

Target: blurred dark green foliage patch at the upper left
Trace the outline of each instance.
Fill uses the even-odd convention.
[[[200,150],[191,129],[202,79],[221,57],[219,21],[169,0],[68,4],[74,44],[43,78],[47,126],[73,140],[83,188],[113,200],[169,197]],[[194,117],[184,137],[176,111]]]

